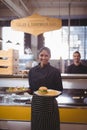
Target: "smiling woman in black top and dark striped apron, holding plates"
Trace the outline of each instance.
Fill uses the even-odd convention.
[[[43,47],[38,54],[39,64],[30,69],[29,91],[33,94],[31,130],[60,130],[58,104],[55,96],[39,96],[34,93],[41,86],[62,91],[62,78],[57,68],[50,65],[50,49]]]

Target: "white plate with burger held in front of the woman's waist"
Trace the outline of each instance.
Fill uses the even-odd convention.
[[[37,91],[34,92],[36,95],[39,96],[53,96],[53,97],[57,97],[59,96],[62,92],[61,91],[57,91],[54,89],[47,89],[47,87],[40,87]]]

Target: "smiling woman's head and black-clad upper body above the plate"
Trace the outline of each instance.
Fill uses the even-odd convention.
[[[41,48],[39,52],[40,63],[29,71],[30,90],[36,91],[40,86],[46,86],[48,89],[62,91],[62,79],[57,68],[50,65],[50,50],[47,47]]]

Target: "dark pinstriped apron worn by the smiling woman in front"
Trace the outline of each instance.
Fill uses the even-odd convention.
[[[31,130],[60,130],[59,109],[55,97],[33,95]]]

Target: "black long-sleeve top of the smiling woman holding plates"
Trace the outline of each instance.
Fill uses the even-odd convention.
[[[46,86],[48,89],[58,91],[63,90],[62,78],[59,70],[49,63],[43,68],[41,68],[40,65],[31,68],[28,79],[32,92],[38,90],[41,86]]]

